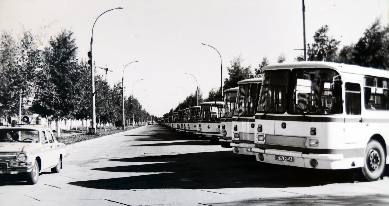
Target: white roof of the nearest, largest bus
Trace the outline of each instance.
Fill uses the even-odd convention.
[[[335,69],[339,73],[351,73],[351,74],[361,74],[361,75],[372,75],[372,76],[389,76],[389,71],[383,69],[368,68],[353,64],[343,64],[335,62],[294,62],[294,63],[281,63],[265,66],[263,71],[272,70],[272,69],[294,69],[294,68],[328,68]]]

